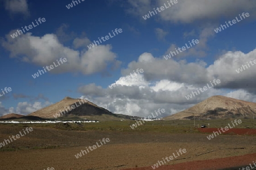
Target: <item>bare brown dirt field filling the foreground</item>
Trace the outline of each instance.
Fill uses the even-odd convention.
[[[47,167],[107,170],[146,167],[145,169],[152,169],[151,165],[176,153],[180,148],[185,148],[187,152],[164,165],[177,164],[182,167],[180,163],[188,163],[191,164],[192,169],[192,163],[189,162],[232,156],[242,158],[242,155],[256,153],[256,136],[254,135],[219,135],[209,141],[207,139],[209,134],[197,133],[33,129],[30,134],[0,149],[1,169],[47,169]],[[20,130],[22,128],[1,126],[0,142],[9,139],[10,134],[18,134]],[[96,142],[102,138],[109,138],[110,142],[79,159],[75,157],[81,150],[85,150],[85,147],[96,145]],[[255,154],[250,158],[255,159]],[[232,164],[233,158],[229,160],[227,164],[230,163],[232,166],[236,163],[238,166],[255,161],[246,159],[248,162]],[[212,167],[219,164],[217,160],[209,162],[212,163]],[[194,167],[200,169],[201,164],[196,162]],[[164,168],[164,165],[158,169]],[[214,169],[214,167],[208,166],[208,169]]]

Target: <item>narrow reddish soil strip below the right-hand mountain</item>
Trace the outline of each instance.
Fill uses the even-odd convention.
[[[256,135],[256,129],[236,129],[232,128],[227,131],[223,132],[220,128],[197,128],[200,132],[203,133],[213,133],[213,131],[221,131],[221,134],[238,134],[238,135]]]

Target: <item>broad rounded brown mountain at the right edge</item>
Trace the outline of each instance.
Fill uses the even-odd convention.
[[[256,113],[256,103],[225,96],[212,96],[185,111],[167,116],[164,120],[190,120],[193,118],[193,114],[195,114],[196,118],[202,119],[230,117],[252,118],[254,113]]]

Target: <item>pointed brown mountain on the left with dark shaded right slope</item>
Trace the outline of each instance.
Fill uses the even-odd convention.
[[[68,109],[68,107],[70,107],[70,109]],[[63,112],[63,116],[60,112]],[[65,97],[55,104],[28,115],[54,119],[56,116],[57,118],[87,118],[89,120],[98,121],[120,120],[120,117],[116,114],[109,112],[107,109],[98,107],[98,105],[90,101],[84,100],[82,102],[81,99],[73,99],[71,97]]]

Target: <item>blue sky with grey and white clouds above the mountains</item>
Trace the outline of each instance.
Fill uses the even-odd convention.
[[[0,0],[0,116],[66,96],[141,117],[214,95],[256,102],[255,9],[250,0]]]

